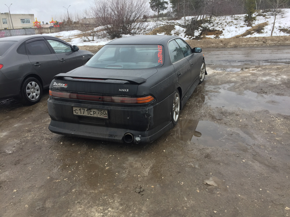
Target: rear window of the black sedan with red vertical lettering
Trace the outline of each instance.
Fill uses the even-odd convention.
[[[87,63],[95,68],[141,69],[163,65],[162,45],[105,45]]]

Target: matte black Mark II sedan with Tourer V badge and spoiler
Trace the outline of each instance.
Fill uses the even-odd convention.
[[[125,143],[150,143],[177,124],[205,78],[201,48],[176,36],[130,36],[102,47],[50,84],[49,130]]]

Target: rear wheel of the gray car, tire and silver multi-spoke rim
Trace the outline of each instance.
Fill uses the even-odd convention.
[[[39,80],[29,77],[23,81],[20,89],[20,99],[24,105],[33,105],[42,97],[42,86]]]

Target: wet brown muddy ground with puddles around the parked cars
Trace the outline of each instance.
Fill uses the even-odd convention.
[[[211,61],[179,123],[144,146],[51,133],[48,91],[0,101],[0,216],[290,216],[290,56],[243,61]]]

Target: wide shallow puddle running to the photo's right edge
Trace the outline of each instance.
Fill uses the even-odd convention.
[[[206,94],[207,101],[212,107],[269,110],[272,113],[290,115],[289,96],[269,96],[252,91],[244,91],[240,95],[224,89],[217,90],[215,93],[208,91]]]

